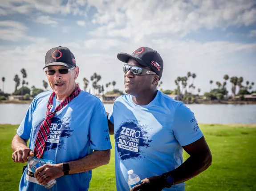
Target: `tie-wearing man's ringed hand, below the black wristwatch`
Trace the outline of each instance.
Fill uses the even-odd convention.
[[[41,185],[47,184],[53,179],[57,179],[64,175],[62,171],[62,163],[60,164],[44,164],[38,167],[35,173],[35,178]]]

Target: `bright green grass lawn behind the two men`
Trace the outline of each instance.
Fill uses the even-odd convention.
[[[256,125],[200,124],[212,152],[212,165],[186,182],[187,191],[256,191]],[[17,125],[0,125],[0,190],[16,191],[24,164],[12,162]],[[114,146],[114,136],[111,135]],[[188,155],[184,152],[184,160]],[[114,149],[110,164],[93,170],[91,191],[114,191]]]

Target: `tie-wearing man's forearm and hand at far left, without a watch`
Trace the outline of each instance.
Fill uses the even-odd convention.
[[[12,157],[13,162],[25,163],[28,162],[28,156],[34,156],[31,149],[27,147],[28,140],[22,139],[19,135],[15,135],[12,139]]]

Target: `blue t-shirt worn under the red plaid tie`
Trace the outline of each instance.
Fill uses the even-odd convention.
[[[47,102],[53,91],[43,92],[33,99],[17,134],[29,139],[29,148],[34,150],[35,139],[45,119]],[[54,96],[52,111],[61,103]],[[43,159],[63,163],[81,159],[93,150],[111,149],[107,116],[102,102],[88,92],[81,91],[68,105],[58,111],[52,119]],[[48,191],[44,186],[28,182],[24,171],[19,191]],[[87,191],[92,172],[86,171],[57,178],[52,191]]]

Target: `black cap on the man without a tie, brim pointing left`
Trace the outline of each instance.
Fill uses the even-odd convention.
[[[163,73],[163,59],[160,54],[148,47],[140,47],[132,54],[118,53],[118,60],[127,63],[130,58],[134,59],[138,64],[151,68],[161,79]]]

